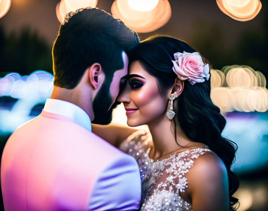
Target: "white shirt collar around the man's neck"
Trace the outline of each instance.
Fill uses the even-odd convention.
[[[69,117],[91,131],[91,121],[86,111],[73,103],[48,98],[45,102],[44,111]]]

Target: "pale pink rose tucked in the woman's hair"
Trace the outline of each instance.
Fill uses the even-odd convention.
[[[202,57],[197,53],[174,53],[173,71],[179,79],[188,80],[192,85],[202,83],[209,79],[208,64],[203,63]]]

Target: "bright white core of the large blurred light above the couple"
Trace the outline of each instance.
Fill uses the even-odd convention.
[[[157,6],[159,0],[127,0],[131,9],[137,11],[150,11]]]

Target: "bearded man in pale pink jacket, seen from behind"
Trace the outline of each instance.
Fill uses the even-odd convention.
[[[91,132],[109,124],[136,33],[98,8],[66,15],[54,42],[54,89],[42,113],[8,139],[5,210],[137,210],[135,159]]]

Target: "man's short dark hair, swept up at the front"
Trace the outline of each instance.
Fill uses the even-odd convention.
[[[137,33],[104,10],[78,12],[60,25],[53,45],[54,85],[73,89],[95,62],[111,82],[114,72],[124,68],[122,52],[138,42]]]

